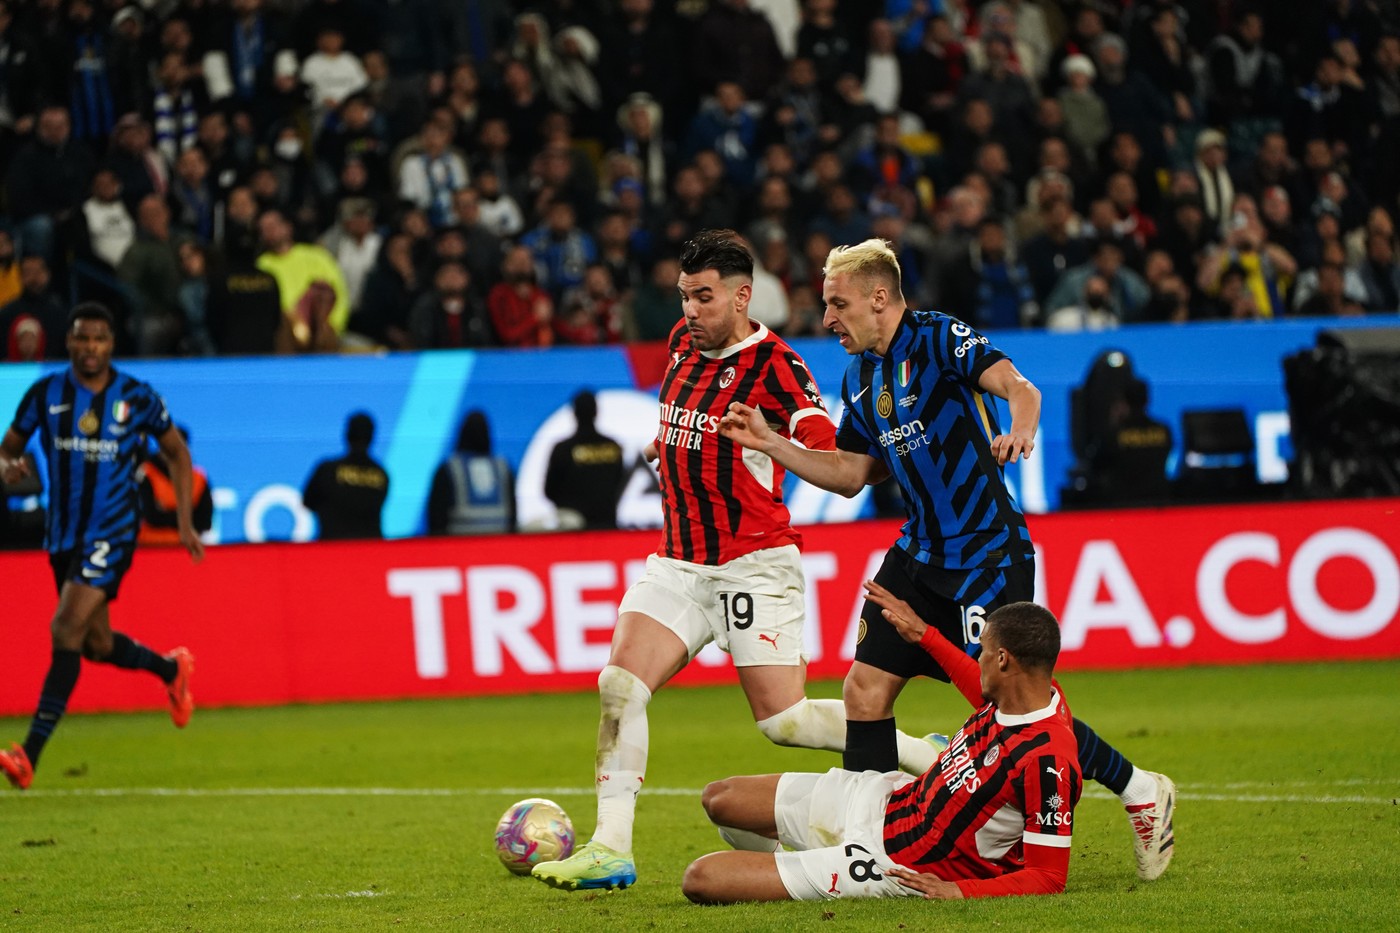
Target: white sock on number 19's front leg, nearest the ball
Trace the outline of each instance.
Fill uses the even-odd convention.
[[[633,674],[609,664],[598,674],[598,828],[594,839],[631,852],[637,793],[647,770],[647,703],[651,691]]]

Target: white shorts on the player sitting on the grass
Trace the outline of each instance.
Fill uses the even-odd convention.
[[[841,768],[783,775],[774,814],[778,842],[794,852],[776,856],[792,899],[920,897],[889,877],[896,864],[885,855],[885,807],[911,780],[900,772]]]

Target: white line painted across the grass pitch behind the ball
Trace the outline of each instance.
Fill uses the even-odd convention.
[[[1396,787],[1396,782],[1389,780],[1355,780],[1341,782],[1351,786],[1383,786]],[[1394,806],[1400,799],[1400,790],[1394,796],[1368,797],[1361,794],[1231,794],[1221,793],[1221,787],[1232,786],[1277,786],[1267,783],[1242,782],[1238,785],[1221,785],[1212,787],[1180,786],[1179,792],[1184,800],[1214,800],[1224,803],[1301,803],[1301,804],[1369,804]],[[1292,785],[1288,785],[1292,786]],[[1298,786],[1327,786],[1306,785]],[[644,794],[658,797],[699,797],[697,787],[645,787]],[[0,794],[0,800],[21,800],[34,797],[592,797],[592,787],[83,787],[83,789],[53,789],[27,790],[22,794]],[[1113,800],[1113,794],[1099,787],[1089,787],[1085,797],[1096,800]]]

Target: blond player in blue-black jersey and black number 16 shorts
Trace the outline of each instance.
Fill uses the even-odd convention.
[[[909,521],[875,580],[907,600],[955,644],[976,653],[984,612],[1035,594],[1035,549],[1004,466],[1035,450],[1040,392],[1011,359],[966,324],[904,304],[899,261],[882,240],[837,247],[823,269],[822,324],[853,359],[836,450],[809,450],[770,430],[764,412],[729,406],[720,433],[806,482],[854,496],[893,476]],[[1004,431],[987,395],[1007,399]],[[913,677],[951,671],[881,623],[868,601],[846,675],[850,770],[893,770],[895,699]],[[1074,720],[1079,768],[1123,801],[1138,876],[1151,881],[1175,850],[1170,779],[1134,768]]]

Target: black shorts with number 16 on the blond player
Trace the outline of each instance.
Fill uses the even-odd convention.
[[[981,621],[987,614],[1035,597],[1036,562],[987,570],[945,570],[920,563],[895,546],[885,555],[875,583],[913,607],[918,618],[945,639],[967,649],[980,644]],[[976,656],[976,650],[969,653]],[[861,608],[855,660],[906,679],[924,675],[948,682],[948,674],[928,651],[902,639],[869,600]]]

